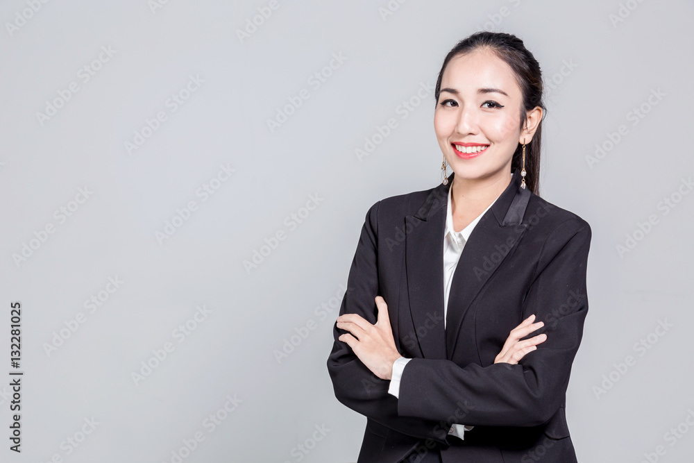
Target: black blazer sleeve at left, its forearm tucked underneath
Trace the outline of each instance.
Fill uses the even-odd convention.
[[[378,203],[366,213],[359,236],[357,251],[350,267],[347,291],[342,299],[340,314],[359,314],[369,323],[376,323],[378,310],[374,298],[378,296]],[[328,372],[337,400],[354,410],[405,435],[430,438],[446,442],[448,428],[438,421],[412,416],[398,416],[398,398],[388,394],[389,380],[375,376],[352,351],[340,335],[346,330],[333,325],[335,343],[328,357]]]

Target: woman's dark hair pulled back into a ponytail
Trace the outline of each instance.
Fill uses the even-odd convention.
[[[540,65],[532,56],[530,51],[527,51],[523,40],[515,35],[481,31],[466,37],[458,42],[446,55],[439,72],[439,78],[436,83],[436,104],[439,104],[439,92],[441,91],[441,78],[443,71],[446,69],[448,62],[455,56],[470,53],[476,49],[489,49],[496,53],[496,56],[504,60],[507,65],[514,71],[516,82],[521,87],[523,96],[523,104],[521,105],[521,130],[525,125],[525,112],[532,110],[535,106],[543,109],[542,117],[544,119],[547,112],[542,101],[542,71]],[[542,138],[542,121],[539,122],[537,129],[530,143],[525,144],[525,184],[534,194],[538,194],[540,183],[540,144]],[[511,169],[523,167],[523,148],[520,143],[514,152],[511,159]]]

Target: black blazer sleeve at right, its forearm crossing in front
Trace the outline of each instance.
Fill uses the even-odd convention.
[[[583,335],[590,242],[591,228],[578,217],[545,240],[523,301],[522,319],[536,314],[545,323],[525,338],[547,334],[535,351],[515,365],[486,367],[414,358],[403,371],[398,414],[440,420],[464,404],[461,423],[470,426],[539,426],[552,418],[564,401]]]

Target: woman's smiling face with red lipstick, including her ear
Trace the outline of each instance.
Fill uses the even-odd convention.
[[[448,62],[434,131],[455,178],[508,176],[518,142],[532,138],[521,135],[521,98],[511,67],[491,51],[477,49]]]

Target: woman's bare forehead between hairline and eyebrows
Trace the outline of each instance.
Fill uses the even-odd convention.
[[[498,88],[513,98],[521,98],[513,69],[488,49],[451,58],[441,77],[441,88],[444,87],[454,88],[461,94],[475,94],[480,88]]]

